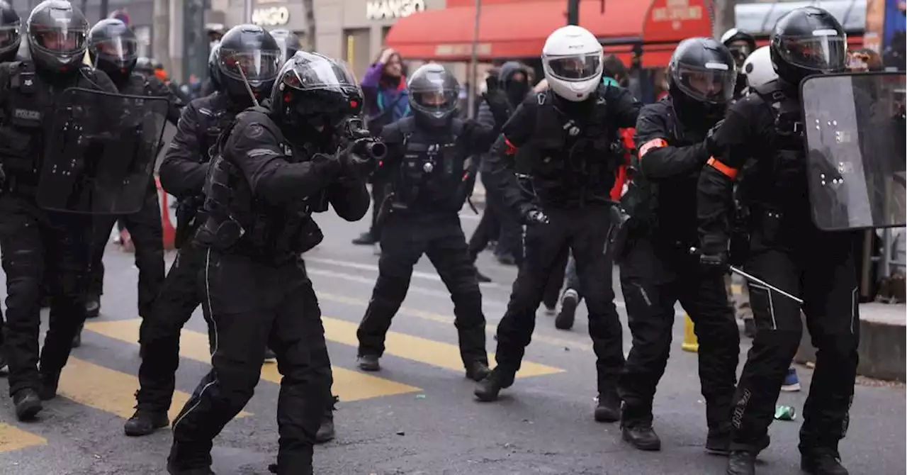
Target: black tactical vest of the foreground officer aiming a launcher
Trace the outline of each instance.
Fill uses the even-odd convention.
[[[289,262],[302,252],[317,246],[324,235],[311,218],[312,198],[275,206],[257,198],[239,168],[229,162],[224,150],[230,132],[249,124],[258,124],[278,137],[278,147],[286,157],[304,157],[296,151],[277,124],[268,117],[268,109],[253,107],[239,114],[220,135],[216,153],[205,182],[205,223],[196,240],[219,252],[238,252],[265,262]],[[321,194],[321,193],[317,193]]]

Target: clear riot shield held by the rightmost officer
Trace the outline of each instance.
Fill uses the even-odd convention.
[[[818,75],[800,88],[815,225],[907,225],[907,74]]]

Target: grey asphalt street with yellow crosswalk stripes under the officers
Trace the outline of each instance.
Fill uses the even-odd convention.
[[[467,235],[476,217],[463,215]],[[319,475],[385,474],[607,474],[703,475],[724,473],[725,459],[703,450],[705,411],[694,353],[681,351],[682,322],[675,325],[674,351],[658,387],[655,427],[660,452],[640,452],[620,440],[617,424],[593,421],[594,355],[580,308],[571,332],[557,331],[543,309],[520,379],[496,403],[473,399],[463,377],[453,328],[453,304],[427,259],[419,262],[403,308],[395,318],[379,373],[356,370],[356,324],[365,312],[377,275],[377,256],[350,240],[367,220],[346,223],[332,213],[318,217],[327,238],[307,253],[318,292],[335,369],[337,438],[316,450]],[[171,262],[173,255],[168,256]],[[123,435],[132,414],[139,366],[137,270],[132,254],[111,245],[101,317],[88,323],[83,346],[63,372],[63,397],[45,404],[40,421],[21,423],[9,398],[0,398],[0,474],[140,475],[164,473],[170,430],[144,438]],[[480,268],[488,349],[501,319],[515,269],[489,253]],[[619,287],[616,286],[619,295]],[[620,297],[618,297],[620,301]],[[623,314],[622,303],[619,311]],[[680,312],[678,310],[678,312]],[[682,314],[682,313],[681,313]],[[623,316],[623,315],[622,315]],[[46,311],[44,312],[46,321]],[[171,414],[208,371],[209,355],[201,312],[183,334],[178,393]],[[629,350],[625,325],[624,350]],[[747,342],[741,348],[741,364]],[[804,389],[810,372],[799,368]],[[0,379],[2,380],[2,379]],[[279,374],[266,363],[255,397],[241,417],[215,440],[219,475],[268,473],[275,460]],[[0,382],[0,391],[7,391]],[[759,473],[799,473],[797,430],[805,391],[783,393],[796,421],[775,421],[772,445],[760,457]],[[841,450],[853,474],[900,475],[907,440],[907,391],[861,385]]]

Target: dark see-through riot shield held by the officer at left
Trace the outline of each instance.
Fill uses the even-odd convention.
[[[38,205],[66,213],[138,212],[169,107],[163,97],[63,91],[45,129]]]

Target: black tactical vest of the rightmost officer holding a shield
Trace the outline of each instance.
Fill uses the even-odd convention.
[[[805,205],[805,128],[800,102],[786,94],[778,80],[756,87],[754,92],[771,107],[775,117],[775,155],[772,160],[753,163],[746,169],[741,195],[747,202],[758,201],[775,208]]]

